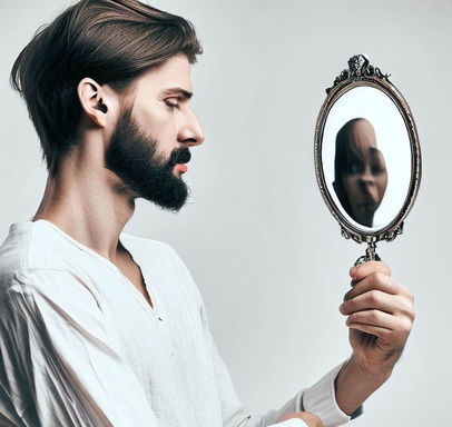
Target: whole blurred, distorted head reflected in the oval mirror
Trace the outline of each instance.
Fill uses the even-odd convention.
[[[352,219],[373,226],[387,185],[386,163],[376,148],[375,130],[366,119],[346,122],[336,136],[333,188]]]

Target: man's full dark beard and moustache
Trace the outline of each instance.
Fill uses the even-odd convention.
[[[122,180],[117,188],[119,192],[130,195],[132,200],[143,197],[163,209],[178,211],[189,190],[173,169],[177,163],[187,163],[190,157],[188,148],[181,148],[165,158],[158,151],[158,140],[139,130],[129,108],[111,137],[106,166]]]

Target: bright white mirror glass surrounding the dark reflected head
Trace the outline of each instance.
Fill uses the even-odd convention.
[[[356,118],[366,120],[372,125],[375,132],[375,143],[386,167],[387,185],[379,209],[375,208],[371,224],[361,221],[358,217],[351,214],[333,185],[336,181],[336,169],[341,169],[335,159],[338,151],[337,135],[346,123]],[[396,217],[410,190],[411,157],[410,135],[403,117],[394,102],[381,90],[364,86],[356,87],[344,93],[332,106],[323,135],[323,169],[326,186],[334,202],[341,214],[355,227],[365,231],[379,230]]]

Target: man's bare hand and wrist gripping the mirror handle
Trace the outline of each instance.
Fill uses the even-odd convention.
[[[346,414],[391,376],[414,321],[413,295],[391,278],[384,262],[364,262],[350,275],[352,289],[340,311],[348,316],[353,356],[336,379],[336,400]]]

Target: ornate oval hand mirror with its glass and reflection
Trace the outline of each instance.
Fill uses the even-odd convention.
[[[364,54],[326,89],[317,118],[315,171],[342,236],[366,242],[356,262],[380,259],[376,242],[403,231],[421,181],[421,150],[410,107]]]

